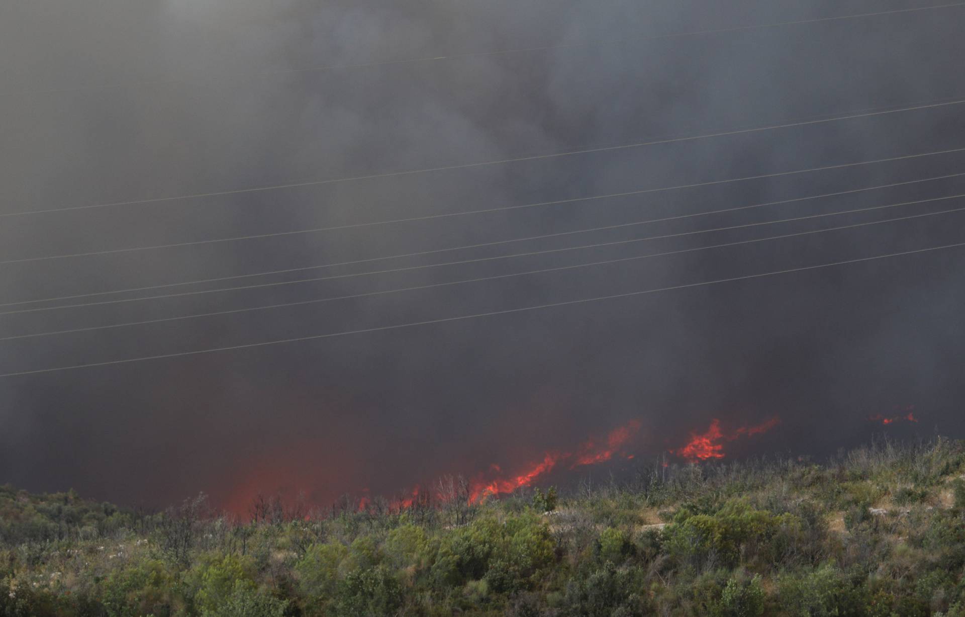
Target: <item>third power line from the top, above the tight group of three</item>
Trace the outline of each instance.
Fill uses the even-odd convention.
[[[427,215],[425,215],[425,216],[414,216],[414,217],[409,217],[409,218],[400,218],[400,219],[386,220],[386,221],[373,221],[373,222],[369,222],[369,223],[351,223],[351,224],[346,224],[346,225],[335,225],[335,226],[328,226],[328,227],[315,227],[315,228],[311,228],[311,229],[290,230],[290,231],[287,231],[287,232],[272,232],[272,233],[268,233],[268,234],[251,234],[251,235],[247,235],[247,236],[235,236],[235,237],[232,237],[232,238],[212,238],[212,239],[205,239],[205,240],[192,240],[192,241],[188,241],[188,242],[173,242],[173,243],[168,243],[168,244],[152,244],[152,245],[148,245],[148,246],[132,246],[132,247],[128,247],[128,248],[115,248],[115,249],[106,249],[106,250],[100,250],[100,251],[88,251],[88,252],[85,252],[85,253],[68,253],[68,254],[63,254],[63,255],[47,255],[47,256],[42,256],[42,257],[25,257],[25,258],[19,258],[19,259],[2,260],[2,261],[0,261],[0,265],[7,265],[7,264],[25,264],[25,263],[32,263],[32,262],[43,262],[43,261],[53,261],[53,260],[61,260],[61,259],[71,259],[71,258],[77,258],[77,257],[96,257],[96,256],[104,256],[104,255],[116,255],[116,254],[122,254],[122,253],[132,253],[132,252],[137,252],[137,251],[162,250],[162,249],[170,249],[170,248],[183,248],[183,247],[187,247],[187,246],[199,246],[199,245],[202,245],[202,244],[217,244],[217,243],[222,243],[222,242],[235,242],[235,241],[251,240],[251,239],[283,238],[283,237],[287,237],[287,236],[297,236],[297,235],[303,235],[303,234],[317,234],[317,233],[331,232],[331,231],[340,231],[340,230],[346,230],[346,229],[357,229],[357,228],[361,228],[361,227],[372,227],[372,226],[376,226],[376,225],[388,225],[388,224],[403,223],[403,222],[416,222],[416,221],[422,221],[422,220],[428,220],[428,219],[434,219],[434,218],[446,218],[446,217],[454,217],[454,216],[465,216],[465,215],[468,215],[468,214],[481,214],[481,213],[507,211],[507,210],[523,210],[523,209],[531,209],[531,208],[538,208],[538,207],[544,207],[544,206],[562,206],[562,205],[565,205],[565,204],[575,204],[575,203],[586,202],[586,201],[595,201],[595,200],[601,200],[601,199],[611,199],[611,198],[616,198],[616,197],[630,197],[630,196],[633,196],[633,195],[643,195],[643,194],[647,194],[647,193],[656,193],[656,192],[663,192],[663,191],[670,191],[670,190],[678,190],[678,189],[683,189],[683,188],[698,188],[698,187],[701,187],[701,186],[711,186],[711,185],[714,185],[714,184],[725,184],[725,183],[731,183],[731,182],[744,182],[744,181],[751,181],[751,180],[763,180],[763,179],[767,179],[767,178],[778,178],[778,177],[781,177],[781,176],[792,176],[792,175],[796,175],[796,174],[804,174],[804,173],[810,173],[810,172],[815,172],[815,171],[827,171],[827,170],[832,170],[832,169],[843,169],[843,168],[855,167],[855,166],[859,166],[859,165],[869,165],[869,164],[882,163],[882,162],[893,162],[893,161],[897,161],[897,160],[907,160],[907,159],[911,159],[911,158],[919,158],[919,157],[922,157],[922,156],[933,156],[933,155],[937,155],[937,154],[953,154],[953,153],[960,153],[960,152],[965,152],[965,148],[954,148],[954,149],[951,149],[951,150],[943,150],[943,151],[932,152],[932,153],[924,153],[924,154],[905,154],[905,155],[903,155],[903,156],[892,156],[892,157],[890,157],[890,158],[879,158],[879,159],[877,159],[877,160],[871,160],[871,161],[862,161],[862,162],[857,162],[857,163],[841,163],[841,164],[838,164],[838,165],[827,165],[827,166],[824,166],[824,167],[814,167],[814,168],[812,168],[812,169],[793,170],[793,171],[788,171],[788,172],[775,172],[775,173],[772,173],[772,174],[762,174],[762,175],[758,175],[758,176],[747,176],[747,177],[744,177],[744,178],[732,178],[732,179],[709,181],[709,182],[695,182],[695,183],[690,183],[690,184],[678,184],[678,185],[676,185],[676,186],[664,186],[664,187],[658,187],[658,188],[645,188],[645,189],[633,190],[633,191],[622,191],[622,192],[619,192],[619,193],[608,193],[608,194],[604,194],[604,195],[591,195],[591,196],[589,196],[589,197],[574,197],[574,198],[570,198],[570,199],[555,200],[555,201],[550,201],[550,202],[538,202],[538,203],[534,203],[534,204],[522,204],[522,205],[519,205],[519,206],[505,206],[505,207],[500,207],[500,208],[488,208],[488,209],[484,209],[484,210],[464,210],[464,211],[461,211],[461,212],[449,212],[449,213],[441,213],[441,214],[427,214]],[[949,176],[939,176],[939,177],[937,177],[937,178],[935,178],[935,179],[926,179],[926,180],[939,180],[939,179],[944,179],[944,178],[952,178],[952,177],[960,176],[960,175],[961,175],[961,174],[951,174],[951,175],[949,175]],[[913,182],[925,182],[925,181],[913,181]],[[895,184],[886,184],[885,186],[894,186],[894,185],[897,185],[897,184],[900,184],[900,183],[912,183],[912,182],[896,182]],[[837,194],[837,193],[836,193],[836,194]],[[725,211],[726,211],[726,210],[725,210]],[[597,229],[609,229],[609,228],[605,228],[605,227],[604,227],[604,228],[597,228]],[[587,231],[597,231],[597,229],[592,229],[592,230],[587,230]],[[574,233],[574,232],[568,232],[568,233]],[[530,238],[522,238],[522,239],[530,239]],[[504,241],[517,241],[517,240],[504,240]],[[489,244],[498,244],[498,243],[501,243],[501,242],[491,242],[491,243],[489,243]],[[476,247],[478,247],[478,246],[487,246],[487,245],[489,245],[489,244],[472,244],[472,245],[469,245],[469,246],[461,246],[461,247],[456,247],[456,248],[452,248],[452,249],[439,249],[439,251],[457,250],[457,248],[476,248]],[[439,251],[428,251],[428,253],[439,252]],[[410,256],[413,256],[413,255],[425,255],[425,254],[427,254],[427,253],[409,253],[409,254],[407,254],[407,255],[401,255],[401,256],[399,256],[399,257],[410,257]],[[390,259],[390,258],[376,258],[376,259]],[[354,263],[354,262],[350,262],[350,263]],[[342,264],[335,264],[335,266],[341,266],[341,265],[342,265]],[[246,275],[246,276],[254,276],[254,275]],[[0,306],[4,306],[4,304],[0,304]]]

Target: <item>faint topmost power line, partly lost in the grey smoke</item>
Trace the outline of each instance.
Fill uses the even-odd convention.
[[[877,11],[873,13],[862,13],[862,14],[847,14],[847,15],[836,15],[829,17],[815,17],[813,19],[797,19],[792,21],[777,21],[772,23],[762,23],[753,24],[747,26],[732,26],[730,28],[712,28],[706,30],[689,30],[684,32],[676,32],[664,35],[652,35],[649,37],[642,37],[640,39],[633,39],[633,42],[641,41],[660,41],[664,39],[677,39],[681,37],[696,37],[705,35],[715,35],[715,34],[727,34],[731,32],[742,32],[748,30],[761,30],[765,28],[777,28],[784,26],[796,26],[796,25],[806,25],[811,23],[821,23],[830,21],[841,21],[845,19],[858,19],[863,17],[875,17],[890,14],[903,14],[903,13],[917,13],[923,11],[938,11],[941,9],[953,9],[956,7],[965,6],[965,2],[956,2],[952,4],[942,4],[930,7],[913,7],[910,9],[896,9],[893,11]],[[424,62],[438,62],[440,60],[461,60],[469,58],[485,58],[493,56],[503,56],[516,53],[535,53],[539,51],[554,51],[559,49],[577,49],[581,47],[595,47],[605,44],[620,44],[628,42],[626,39],[617,39],[614,41],[594,41],[594,42],[576,42],[576,43],[562,43],[556,45],[539,45],[533,47],[517,47],[513,49],[503,49],[497,51],[479,51],[479,52],[469,52],[469,53],[455,53],[455,54],[444,54],[436,56],[418,56],[415,58],[406,58],[402,60],[384,60],[377,62],[368,63],[354,63],[354,64],[344,64],[344,65],[322,65],[317,67],[305,67],[302,69],[282,69],[282,70],[260,70],[254,72],[245,73],[234,73],[235,76],[252,76],[252,77],[262,77],[270,75],[281,75],[281,74],[292,74],[292,73],[303,73],[303,72],[320,72],[325,70],[357,70],[357,69],[372,69],[375,67],[385,67],[393,65],[406,65],[406,64],[417,64]],[[158,84],[184,84],[189,82],[190,79],[184,78],[172,78],[172,79],[150,79],[150,80],[139,80],[128,82],[126,84],[119,83],[108,86],[86,86],[86,87],[75,87],[75,88],[50,88],[44,90],[20,90],[9,93],[2,93],[0,96],[5,97],[22,97],[29,95],[42,95],[42,94],[57,94],[66,92],[78,92],[78,91],[97,91],[97,90],[113,90],[117,88],[124,88],[127,85],[132,86],[148,86],[148,85],[158,85]],[[207,80],[205,82],[207,83]]]

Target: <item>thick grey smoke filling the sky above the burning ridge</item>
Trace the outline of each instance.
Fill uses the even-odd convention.
[[[417,323],[965,241],[965,7],[870,0],[96,0],[0,7],[0,373]],[[516,50],[512,53],[491,53]],[[412,60],[409,62],[409,60]],[[944,106],[811,122],[940,101]],[[734,132],[744,131],[744,132]],[[624,149],[612,146],[710,135]],[[538,154],[596,150],[584,154]],[[485,161],[530,157],[498,164]],[[421,173],[416,170],[437,169]],[[391,174],[391,175],[390,175]],[[374,178],[361,178],[374,176]],[[938,178],[952,176],[949,178]],[[341,180],[341,179],[357,180]],[[914,182],[923,181],[926,182]],[[328,182],[340,181],[340,182]],[[310,183],[240,193],[227,191]],[[908,182],[897,184],[899,182]],[[441,251],[825,193],[833,197]],[[207,193],[218,195],[186,197]],[[949,199],[938,199],[946,198]],[[160,198],[173,198],[163,199]],[[211,294],[810,214],[676,238]],[[76,209],[123,202],[123,205]],[[391,493],[639,418],[656,455],[779,416],[731,457],[962,436],[965,250],[249,350],[0,378],[0,482],[160,506],[206,491]]]

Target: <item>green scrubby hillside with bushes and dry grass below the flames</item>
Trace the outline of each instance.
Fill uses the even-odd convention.
[[[4,487],[0,616],[965,616],[963,473],[962,442],[886,442],[245,523]]]

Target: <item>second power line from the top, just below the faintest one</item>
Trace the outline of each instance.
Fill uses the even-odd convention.
[[[696,141],[696,140],[700,140],[700,139],[710,139],[710,138],[714,138],[714,137],[727,137],[727,136],[732,136],[732,135],[741,135],[741,134],[762,132],[762,131],[765,131],[765,130],[776,130],[776,129],[780,129],[780,128],[791,128],[791,127],[795,127],[795,126],[812,126],[812,125],[819,125],[819,124],[825,124],[825,123],[830,123],[830,122],[840,122],[840,121],[844,121],[844,120],[856,120],[856,119],[859,119],[859,118],[870,118],[870,117],[874,117],[874,116],[883,116],[883,115],[888,115],[888,114],[896,114],[896,113],[901,113],[901,112],[905,112],[905,111],[917,111],[917,110],[923,110],[923,109],[934,109],[934,108],[938,108],[938,107],[947,107],[947,106],[950,106],[950,105],[960,105],[960,104],[962,104],[962,103],[965,103],[965,98],[956,98],[956,99],[952,99],[952,100],[945,100],[945,101],[942,101],[942,102],[931,102],[931,103],[915,104],[915,105],[910,105],[910,106],[906,106],[906,107],[897,107],[897,108],[886,109],[886,110],[882,110],[882,111],[871,111],[871,112],[863,112],[863,113],[850,113],[850,114],[846,114],[846,115],[843,115],[843,116],[833,116],[833,117],[830,117],[830,118],[822,118],[822,119],[818,119],[818,120],[807,120],[807,121],[792,122],[792,123],[786,123],[786,124],[782,124],[782,125],[768,125],[768,126],[757,126],[757,127],[752,127],[752,128],[741,128],[741,129],[736,129],[736,130],[729,130],[729,131],[722,131],[722,132],[715,132],[715,133],[704,133],[704,134],[702,134],[702,135],[691,135],[691,136],[685,136],[685,137],[673,137],[673,138],[667,138],[667,139],[656,139],[656,140],[651,140],[651,141],[637,142],[637,143],[633,143],[633,144],[622,144],[622,145],[617,145],[617,146],[604,146],[604,147],[599,147],[599,148],[585,148],[585,149],[581,149],[581,150],[573,150],[573,151],[567,151],[567,152],[561,152],[561,153],[553,153],[553,154],[532,154],[532,155],[528,155],[528,156],[516,156],[516,157],[513,157],[513,158],[503,158],[503,159],[499,159],[499,160],[480,161],[480,162],[475,162],[475,163],[460,163],[460,164],[457,164],[457,165],[445,165],[445,166],[441,166],[441,167],[428,167],[428,168],[424,168],[424,169],[414,169],[414,170],[408,170],[408,171],[385,172],[385,173],[379,173],[379,174],[370,174],[370,175],[365,175],[365,176],[353,176],[353,177],[337,178],[337,179],[331,179],[331,180],[320,180],[320,181],[312,181],[312,182],[293,182],[293,183],[287,183],[287,184],[273,184],[273,185],[269,185],[269,186],[256,186],[256,187],[251,187],[251,188],[238,188],[238,189],[234,189],[234,190],[213,191],[213,192],[207,192],[207,193],[193,193],[193,194],[188,194],[188,195],[178,195],[178,196],[174,196],[174,197],[154,197],[154,198],[151,198],[151,199],[140,199],[140,200],[126,201],[126,202],[112,202],[112,203],[104,203],[104,204],[92,204],[92,205],[88,205],[88,206],[71,206],[71,207],[68,207],[68,208],[52,208],[52,209],[46,209],[46,210],[22,210],[22,211],[17,211],[17,212],[4,212],[4,213],[0,213],[0,217],[5,217],[5,216],[25,216],[25,215],[29,215],[29,214],[45,214],[45,213],[64,212],[64,211],[73,211],[73,210],[93,210],[93,209],[99,209],[99,208],[114,208],[114,207],[120,207],[120,206],[137,206],[137,205],[145,205],[145,204],[157,204],[157,203],[162,203],[162,202],[171,202],[171,201],[177,201],[177,200],[181,200],[181,199],[198,199],[198,198],[204,198],[204,197],[217,197],[217,196],[224,196],[224,195],[238,195],[238,194],[242,194],[242,193],[262,192],[262,191],[269,191],[269,190],[278,190],[278,189],[282,189],[282,188],[296,188],[296,187],[301,187],[301,186],[317,186],[317,185],[322,185],[322,184],[332,184],[332,183],[338,183],[338,182],[358,182],[358,181],[376,180],[376,179],[384,179],[384,178],[399,178],[399,177],[402,177],[402,176],[412,176],[412,175],[416,175],[416,174],[426,174],[426,173],[434,173],[434,172],[441,172],[441,171],[453,171],[453,170],[457,170],[457,169],[471,169],[471,168],[475,168],[475,167],[485,167],[485,166],[492,166],[492,165],[504,165],[504,164],[508,164],[508,163],[522,162],[522,161],[527,161],[527,160],[541,160],[541,159],[547,159],[547,158],[557,158],[557,157],[560,157],[560,156],[573,156],[573,155],[577,155],[577,154],[593,154],[593,153],[602,153],[602,152],[615,152],[615,151],[620,151],[620,150],[629,150],[629,149],[633,149],[633,148],[643,148],[643,147],[646,147],[646,146],[656,146],[656,145],[660,145],[660,144],[673,144],[673,143],[680,143],[680,142],[686,142],[686,141]]]

